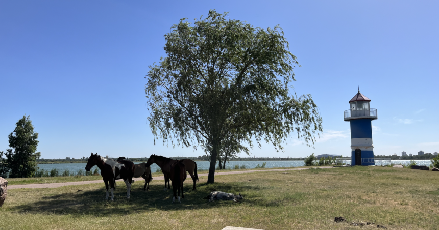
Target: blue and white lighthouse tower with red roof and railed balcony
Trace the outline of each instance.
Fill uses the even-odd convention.
[[[378,119],[377,109],[370,107],[371,99],[358,93],[345,111],[345,121],[351,123],[351,165],[375,165],[372,141],[372,120]]]

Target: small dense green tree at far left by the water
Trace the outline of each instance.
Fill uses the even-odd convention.
[[[11,149],[6,150],[6,162],[11,170],[9,177],[34,177],[38,169],[36,160],[41,156],[40,152],[36,152],[38,133],[34,132],[30,116],[23,116],[16,125],[14,132],[8,136]]]

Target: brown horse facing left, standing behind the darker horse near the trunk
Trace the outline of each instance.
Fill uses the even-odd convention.
[[[170,171],[170,166],[177,162],[176,160],[167,158],[167,157],[163,157],[163,156],[158,156],[158,155],[151,155],[150,158],[147,161],[147,167],[150,167],[151,164],[156,163],[163,172],[164,178],[165,178],[165,187],[163,190],[166,189],[170,189],[170,184],[169,184],[169,171]],[[198,174],[197,174],[197,163],[193,160],[189,160],[189,159],[183,159],[182,163],[185,166],[186,171],[189,172],[190,177],[192,178],[193,181],[193,190],[196,190],[195,187],[195,182],[198,181]],[[167,188],[166,188],[166,181],[167,181]]]

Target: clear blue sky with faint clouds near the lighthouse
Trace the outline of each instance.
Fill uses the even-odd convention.
[[[144,77],[170,27],[210,9],[279,24],[302,66],[294,91],[323,118],[313,147],[292,133],[283,152],[263,143],[251,156],[350,155],[343,111],[358,87],[378,110],[375,155],[439,152],[438,1],[0,1],[0,151],[26,114],[41,158],[204,155],[154,145]]]

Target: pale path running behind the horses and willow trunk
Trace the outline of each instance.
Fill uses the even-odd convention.
[[[304,170],[309,168],[287,168],[287,169],[266,169],[266,170],[248,170],[248,171],[226,171],[226,172],[215,172],[216,175],[229,175],[229,174],[249,174],[251,172],[258,171],[289,171],[289,170]],[[319,167],[319,168],[333,168],[333,167]],[[199,177],[207,176],[208,174],[199,174]],[[164,177],[153,177],[154,180],[164,180]],[[117,180],[117,181],[122,181]],[[135,179],[135,181],[143,182],[143,179]],[[104,183],[102,180],[97,181],[76,181],[76,182],[64,182],[64,183],[50,183],[50,184],[27,184],[27,185],[9,185],[7,188],[9,189],[18,189],[18,188],[58,188],[62,186],[68,185],[85,185],[85,184],[96,184],[96,183]]]

